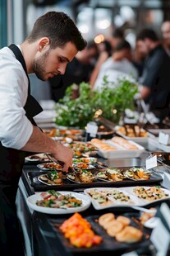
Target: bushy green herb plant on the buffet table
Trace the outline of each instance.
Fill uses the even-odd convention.
[[[72,97],[76,84],[67,88],[65,96],[56,103],[56,123],[58,126],[73,126],[85,129],[89,121],[103,116],[118,124],[126,108],[135,108],[134,96],[138,85],[127,78],[119,78],[117,86],[108,86],[103,77],[103,87],[92,90],[89,83],[80,83],[78,97]]]

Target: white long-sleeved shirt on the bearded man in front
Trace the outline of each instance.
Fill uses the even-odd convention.
[[[7,148],[21,149],[33,132],[25,116],[27,96],[25,71],[13,52],[4,47],[0,50],[0,140]]]

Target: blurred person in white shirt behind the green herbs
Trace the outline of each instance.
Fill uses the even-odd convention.
[[[120,41],[113,55],[109,57],[100,67],[99,75],[96,78],[94,89],[99,89],[103,84],[103,77],[108,76],[108,81],[114,83],[111,86],[117,86],[117,78],[129,78],[136,80],[138,78],[138,71],[132,63],[131,45],[128,41]]]

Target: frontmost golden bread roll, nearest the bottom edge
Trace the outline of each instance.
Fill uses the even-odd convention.
[[[118,242],[135,243],[142,239],[143,233],[141,230],[129,225],[126,226],[121,232],[117,233],[115,238]]]

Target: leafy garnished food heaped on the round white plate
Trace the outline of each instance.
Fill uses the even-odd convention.
[[[69,193],[62,195],[62,193],[55,190],[48,190],[40,195],[43,199],[36,201],[37,206],[67,209],[82,205],[81,200],[76,199],[76,197],[71,196]]]

